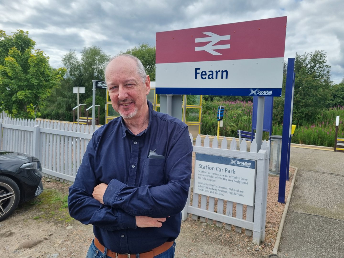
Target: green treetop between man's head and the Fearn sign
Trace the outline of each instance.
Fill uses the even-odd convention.
[[[150,80],[155,81],[155,46],[142,43],[138,47],[128,49],[124,54],[131,54],[139,58]]]

